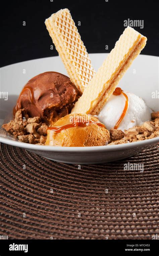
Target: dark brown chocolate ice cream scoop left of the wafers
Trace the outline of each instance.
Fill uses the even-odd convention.
[[[68,115],[80,96],[69,77],[57,72],[45,72],[33,77],[24,86],[13,114],[24,108],[30,117],[39,116],[52,124]]]

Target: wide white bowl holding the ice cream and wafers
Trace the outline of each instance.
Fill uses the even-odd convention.
[[[101,66],[106,56],[107,54],[90,54],[95,70]],[[29,79],[46,71],[56,71],[67,75],[60,57],[25,61],[1,68],[0,92],[8,93],[8,99],[0,99],[0,125],[12,119],[12,108],[16,103],[16,99],[22,87]],[[158,57],[139,55],[127,70],[118,86],[125,91],[132,92],[142,97],[152,110],[158,111]],[[0,130],[0,142],[24,148],[57,162],[98,164],[133,156],[151,145],[158,143],[159,138],[131,142],[123,145],[66,148],[18,142]]]

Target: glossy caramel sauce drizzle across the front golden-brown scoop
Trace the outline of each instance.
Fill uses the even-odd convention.
[[[89,119],[88,121],[84,120],[84,122],[78,122],[77,121],[77,122],[72,122],[70,124],[66,124],[66,125],[63,125],[63,126],[49,127],[47,130],[52,130],[54,132],[59,133],[62,130],[66,130],[66,129],[77,127],[77,126],[79,126],[79,127],[86,127],[89,124],[96,124],[98,126],[101,126],[101,127],[105,128],[104,124]]]

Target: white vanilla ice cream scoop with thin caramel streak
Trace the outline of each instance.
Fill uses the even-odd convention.
[[[144,100],[133,93],[124,93],[128,97],[128,108],[117,129],[124,131],[151,120],[152,110],[145,104]],[[107,129],[114,128],[125,107],[125,101],[126,99],[123,94],[111,95],[110,99],[100,111],[98,118]]]

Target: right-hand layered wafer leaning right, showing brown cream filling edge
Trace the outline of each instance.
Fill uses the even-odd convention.
[[[147,38],[127,27],[88,84],[72,113],[98,115],[125,71],[146,45]]]

